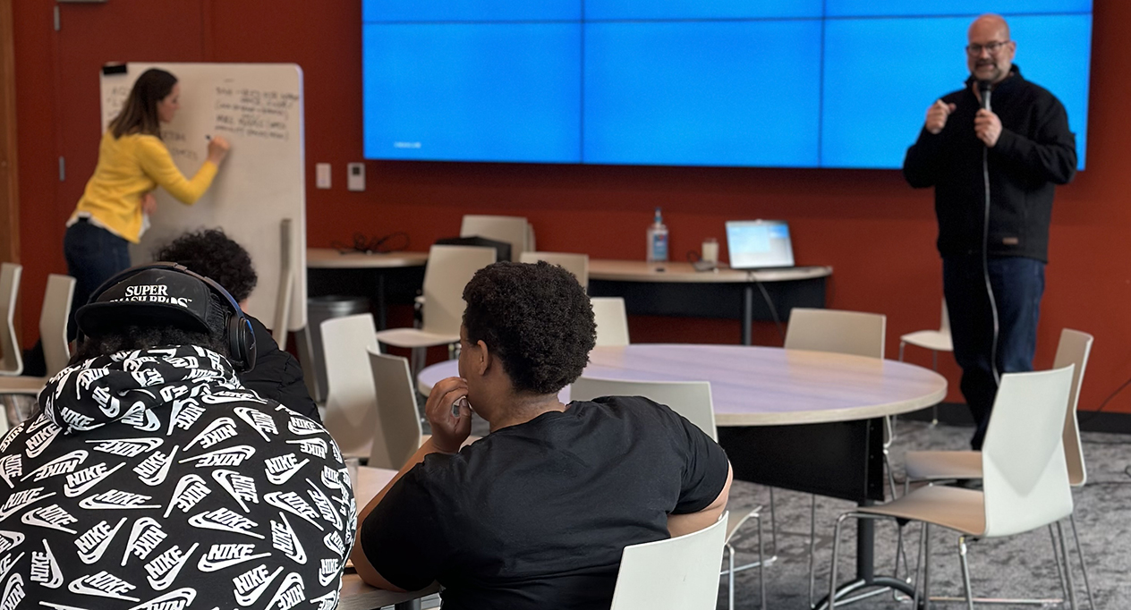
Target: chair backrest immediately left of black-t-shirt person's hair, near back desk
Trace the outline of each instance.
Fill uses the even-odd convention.
[[[472,276],[495,262],[491,247],[434,245],[424,269],[424,324],[437,334],[459,334],[463,322],[464,287]]]

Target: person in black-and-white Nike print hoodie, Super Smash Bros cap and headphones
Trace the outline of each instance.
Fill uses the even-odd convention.
[[[231,295],[154,263],[77,321],[71,366],[0,436],[0,608],[335,608],[349,478],[321,426],[240,384]]]

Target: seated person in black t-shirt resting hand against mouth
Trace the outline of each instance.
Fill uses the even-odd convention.
[[[432,389],[431,439],[361,512],[357,574],[392,590],[438,581],[448,610],[608,608],[625,546],[718,518],[726,455],[644,398],[559,402],[596,334],[562,268],[495,263],[464,300],[460,376]],[[491,434],[460,450],[473,409]]]

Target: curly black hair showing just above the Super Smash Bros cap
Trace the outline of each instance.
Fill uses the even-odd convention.
[[[219,228],[185,233],[158,250],[154,260],[175,262],[216,280],[238,303],[259,280],[248,251]]]

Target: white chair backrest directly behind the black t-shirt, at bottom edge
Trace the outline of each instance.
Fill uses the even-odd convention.
[[[610,610],[714,610],[727,516],[698,532],[624,547]]]

